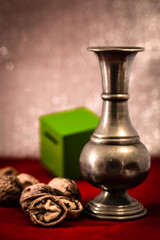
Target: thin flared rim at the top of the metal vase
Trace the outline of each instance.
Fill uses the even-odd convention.
[[[143,47],[88,47],[88,51],[103,52],[103,51],[124,51],[124,52],[141,52],[145,49]]]

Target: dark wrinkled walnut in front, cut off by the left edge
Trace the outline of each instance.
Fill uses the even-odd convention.
[[[21,185],[15,176],[0,178],[0,206],[17,205],[20,195]]]

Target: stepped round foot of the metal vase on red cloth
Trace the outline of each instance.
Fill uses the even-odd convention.
[[[127,192],[102,191],[90,200],[84,211],[87,215],[104,220],[132,220],[146,215],[147,210]]]

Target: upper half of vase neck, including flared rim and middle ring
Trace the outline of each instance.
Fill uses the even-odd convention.
[[[106,100],[128,99],[128,85],[133,59],[143,48],[91,47],[88,50],[98,56],[102,75],[102,98]]]

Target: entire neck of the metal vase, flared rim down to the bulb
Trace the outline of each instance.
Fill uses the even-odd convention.
[[[139,136],[128,113],[128,84],[132,61],[142,48],[89,48],[98,56],[102,75],[103,108],[91,140],[104,144],[132,144]]]

